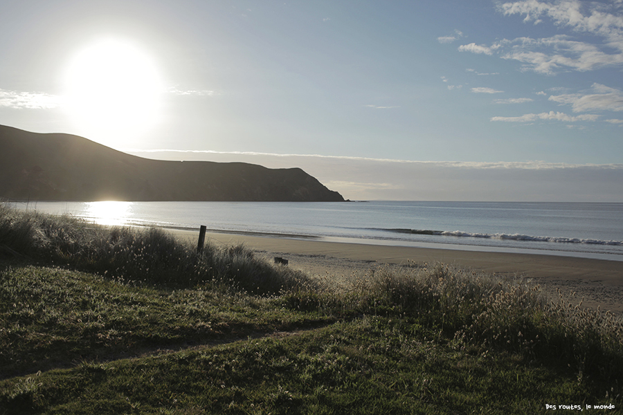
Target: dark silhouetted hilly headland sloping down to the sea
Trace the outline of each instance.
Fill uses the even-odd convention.
[[[299,168],[163,161],[0,126],[0,197],[39,201],[344,201]]]

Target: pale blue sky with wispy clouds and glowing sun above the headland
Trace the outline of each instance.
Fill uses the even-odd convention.
[[[623,201],[621,0],[3,1],[0,59],[29,131],[350,199]]]

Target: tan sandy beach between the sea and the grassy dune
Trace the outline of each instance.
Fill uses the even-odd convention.
[[[174,234],[197,243],[199,230],[173,230]],[[283,257],[289,266],[311,275],[351,275],[370,268],[395,264],[403,266],[424,263],[444,264],[482,270],[501,277],[532,279],[555,295],[557,289],[568,296],[575,292],[574,304],[584,297],[584,306],[600,307],[623,316],[623,261],[561,257],[503,252],[478,252],[404,246],[381,246],[361,243],[339,243],[314,239],[255,237],[211,233],[206,243],[237,245],[243,243],[258,256]]]

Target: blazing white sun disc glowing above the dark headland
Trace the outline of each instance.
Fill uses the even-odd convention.
[[[138,139],[159,119],[163,86],[156,65],[131,42],[103,39],[67,66],[66,109],[81,135],[107,145]]]

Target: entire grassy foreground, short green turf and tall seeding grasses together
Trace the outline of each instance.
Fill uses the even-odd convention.
[[[2,207],[0,414],[622,408],[613,315],[443,264],[335,281]]]

